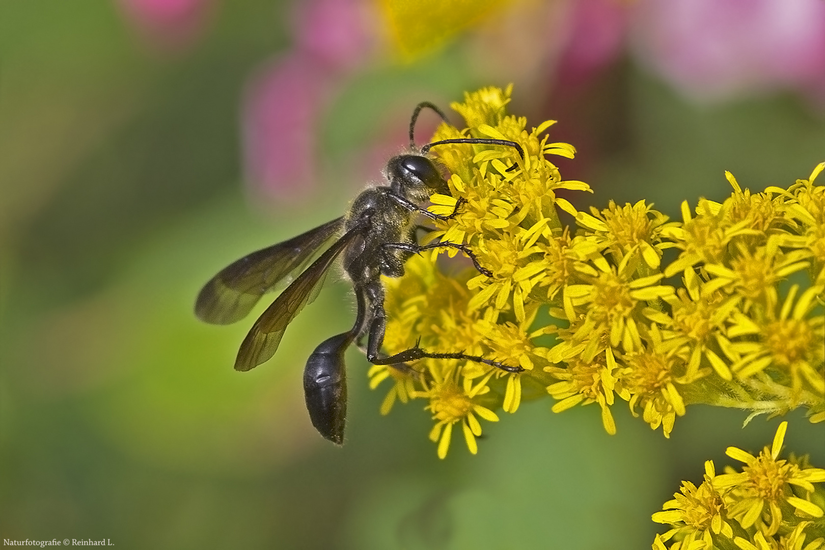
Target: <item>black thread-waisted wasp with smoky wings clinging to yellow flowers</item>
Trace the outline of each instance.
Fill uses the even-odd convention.
[[[524,158],[518,143],[503,139],[443,139],[417,149],[413,130],[418,114],[425,107],[448,122],[446,115],[430,102],[416,106],[409,128],[411,153],[389,159],[384,174],[389,185],[374,186],[361,192],[349,212],[341,218],[229,264],[205,284],[195,303],[195,313],[202,321],[227,325],[246,317],[257,301],[279,282],[300,274],[258,317],[243,339],[235,369],[253,369],[275,355],[286,327],[306,304],[315,299],[330,266],[343,253],[343,268],[356,294],[356,322],[349,331],[332,336],[315,348],[304,369],[304,396],[309,417],[318,432],[336,444],[343,443],[347,415],[344,352],[353,341],[363,349],[362,341],[366,338],[366,358],[372,364],[409,368],[404,364],[422,358],[464,359],[508,372],[523,370],[462,352],[431,353],[417,344],[395,355],[387,356],[380,351],[387,323],[380,276],[402,276],[404,261],[409,256],[436,248],[453,248],[469,256],[479,272],[493,275],[479,266],[473,251],[464,244],[418,244],[416,234],[421,226],[414,223],[414,214],[433,220],[451,219],[463,202],[459,200],[448,216],[432,214],[422,206],[433,193],[450,195],[447,182],[427,153],[432,147],[444,143],[480,143],[516,148]],[[337,240],[306,267],[316,251],[336,237]]]

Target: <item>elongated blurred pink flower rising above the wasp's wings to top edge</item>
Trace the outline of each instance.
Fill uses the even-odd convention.
[[[306,196],[317,176],[318,120],[348,74],[374,49],[367,0],[296,6],[295,46],[247,86],[243,148],[247,182],[264,199]]]

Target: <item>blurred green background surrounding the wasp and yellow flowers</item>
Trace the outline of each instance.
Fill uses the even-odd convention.
[[[780,419],[742,430],[742,413],[691,407],[665,440],[617,406],[611,437],[597,407],[556,415],[547,399],[485,425],[478,456],[456,438],[440,461],[427,412],[380,416],[384,389],[370,392],[351,350],[347,444],[333,447],[309,424],[300,379],[314,346],[349,326],[347,285],[328,284],[276,358],[247,374],[231,365],[249,322],[198,322],[200,285],[340,215],[364,185],[356,154],[387,125],[406,134],[388,110],[507,82],[471,71],[454,46],[375,63],[323,118],[323,186],[261,205],[242,181],[240,98],[249,74],[290,46],[288,5],[224,2],[175,54],[143,45],[110,2],[0,9],[2,538],[648,548],[664,530],[650,515],[681,479],[700,480],[707,458],[732,463],[728,445],[770,444]],[[601,78],[544,111],[516,82],[512,108],[561,120],[559,141],[577,144],[577,127],[599,136],[583,164],[560,164],[596,190],[590,204],[645,198],[677,217],[683,199],[728,195],[726,169],[759,190],[825,159],[823,118],[794,96],[697,107],[630,62]],[[799,411],[787,419],[787,448],[823,466],[822,428]]]

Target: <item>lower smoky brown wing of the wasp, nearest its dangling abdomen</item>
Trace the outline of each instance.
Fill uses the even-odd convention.
[[[286,327],[305,305],[318,297],[332,262],[361,231],[362,228],[353,228],[345,233],[266,308],[243,339],[235,370],[254,369],[275,355]]]

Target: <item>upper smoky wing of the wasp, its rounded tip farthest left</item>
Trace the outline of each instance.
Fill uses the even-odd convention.
[[[303,270],[318,248],[340,233],[344,219],[333,219],[298,237],[233,261],[200,289],[195,314],[201,321],[229,325],[246,317],[267,292]]]

